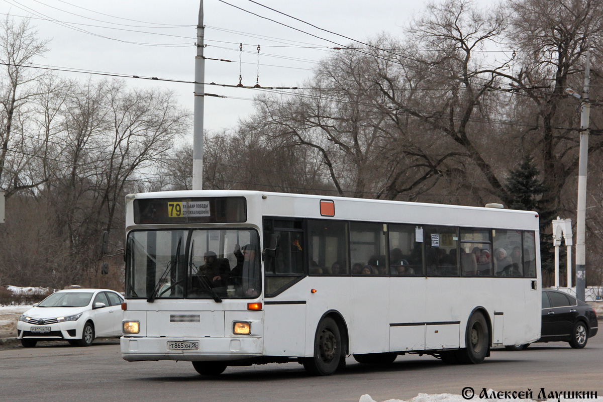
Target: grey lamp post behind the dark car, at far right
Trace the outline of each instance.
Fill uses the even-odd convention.
[[[586,175],[589,159],[590,124],[590,38],[586,43],[586,68],[580,116],[580,157],[578,166],[578,212],[576,216],[576,298],[584,301],[586,288]]]

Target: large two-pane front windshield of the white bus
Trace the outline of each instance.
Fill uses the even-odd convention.
[[[132,231],[127,298],[256,298],[262,291],[259,237],[247,228]]]

